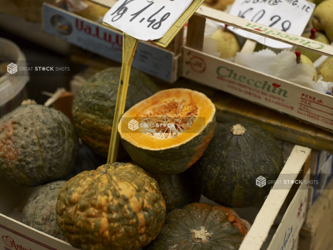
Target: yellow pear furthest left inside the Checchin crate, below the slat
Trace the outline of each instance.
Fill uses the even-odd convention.
[[[217,51],[220,52],[220,58],[231,58],[240,51],[240,43],[232,32],[224,29],[216,30],[210,38],[217,42]]]

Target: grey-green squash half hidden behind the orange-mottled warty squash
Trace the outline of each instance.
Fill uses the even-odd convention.
[[[65,184],[63,180],[54,181],[36,190],[23,208],[22,223],[66,241],[56,221],[58,195]]]

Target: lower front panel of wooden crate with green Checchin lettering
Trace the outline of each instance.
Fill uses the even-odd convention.
[[[182,76],[333,130],[333,96],[184,47]]]

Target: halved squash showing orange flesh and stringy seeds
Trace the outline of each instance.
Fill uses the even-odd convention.
[[[118,124],[133,161],[153,174],[178,174],[207,148],[215,129],[215,105],[184,88],[160,91],[126,111]]]

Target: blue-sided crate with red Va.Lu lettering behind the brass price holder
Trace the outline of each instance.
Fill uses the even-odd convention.
[[[107,7],[111,7],[113,3],[114,1],[109,1]],[[57,6],[43,4],[43,30],[70,44],[122,62],[123,33],[67,11],[64,1],[59,1]],[[182,31],[167,48],[139,41],[132,67],[166,82],[174,82],[178,78],[182,44]]]

